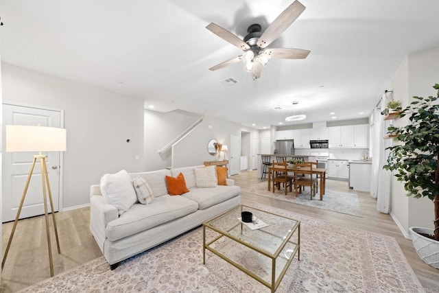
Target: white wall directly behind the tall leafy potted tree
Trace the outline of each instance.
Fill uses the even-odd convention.
[[[425,49],[409,54],[392,77],[390,86],[394,99],[401,99],[405,107],[412,102],[412,97],[418,95],[427,97],[436,95],[433,89],[439,83],[439,47]],[[394,121],[395,126],[404,126],[407,117]],[[408,233],[410,226],[434,228],[434,205],[428,198],[407,198],[403,184],[392,177],[391,210],[396,221]]]

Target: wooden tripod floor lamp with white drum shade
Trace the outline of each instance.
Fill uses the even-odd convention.
[[[19,221],[21,208],[26,198],[27,188],[29,187],[32,173],[37,160],[40,161],[41,168],[41,184],[43,185],[43,202],[44,212],[46,220],[46,234],[47,234],[47,247],[49,248],[49,263],[50,263],[50,276],[54,277],[54,263],[52,261],[52,252],[50,245],[50,231],[49,231],[49,216],[47,215],[47,194],[49,195],[49,202],[51,207],[52,219],[54,220],[54,230],[56,237],[56,245],[58,246],[58,253],[60,252],[60,242],[58,240],[58,229],[56,228],[56,219],[54,213],[54,202],[52,200],[52,194],[49,184],[49,174],[47,173],[46,159],[47,155],[42,152],[64,152],[66,150],[66,130],[62,128],[44,127],[44,126],[21,126],[21,125],[7,125],[6,126],[6,152],[39,152],[34,155],[32,161],[32,167],[27,176],[25,189],[21,196],[19,209],[16,212],[14,226],[6,246],[5,255],[1,262],[1,269],[5,265],[6,257],[8,257],[9,248],[11,246],[12,238],[14,237],[16,224]]]

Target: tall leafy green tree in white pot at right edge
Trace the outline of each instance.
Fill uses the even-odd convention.
[[[411,227],[410,231],[416,253],[439,268],[439,84],[434,89],[438,90],[436,97],[413,97],[414,102],[401,110],[399,117],[409,115],[410,124],[388,127],[401,143],[387,148],[390,154],[383,169],[395,171],[407,196],[427,197],[433,202],[434,230]]]

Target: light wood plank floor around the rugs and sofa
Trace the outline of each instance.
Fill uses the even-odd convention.
[[[266,179],[257,178],[256,171],[242,172],[232,176],[235,185],[242,189],[250,187]],[[356,193],[359,196],[362,218],[315,209],[300,204],[292,204],[247,194],[241,192],[244,200],[260,202],[272,207],[287,209],[295,213],[309,215],[314,218],[327,220],[335,224],[359,228],[383,235],[394,237],[401,250],[412,266],[420,283],[427,288],[427,292],[439,292],[439,270],[428,266],[420,260],[412,241],[405,239],[390,215],[379,213],[376,210],[376,200],[368,193],[348,189],[348,183],[342,180],[327,180],[327,188],[335,191]],[[82,263],[91,261],[102,255],[95,240],[88,229],[90,209],[75,209],[57,214],[58,233],[60,234],[61,255],[56,253],[54,233],[51,234],[52,250],[54,251],[54,272],[59,274]],[[45,233],[44,217],[35,217],[20,220],[16,228],[12,247],[1,274],[0,292],[16,292],[29,285],[38,283],[50,277],[49,260],[47,253],[47,238]],[[12,222],[3,224],[3,253],[12,229]]]

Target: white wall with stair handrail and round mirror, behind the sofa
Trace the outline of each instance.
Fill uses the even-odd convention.
[[[174,165],[171,166],[171,152],[160,156],[157,151],[193,124],[198,117],[201,115],[182,111],[158,113],[145,110],[145,171],[202,165],[204,161],[217,161],[217,156],[211,156],[207,152],[207,143],[211,139],[216,139],[219,143],[228,145],[230,150],[230,135],[241,137],[240,124],[204,116],[202,123],[174,146]],[[230,152],[228,152],[228,158],[230,159]]]

